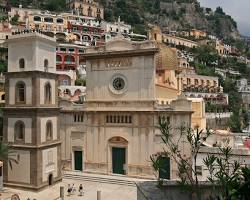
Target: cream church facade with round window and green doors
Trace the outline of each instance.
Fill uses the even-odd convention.
[[[157,52],[154,42],[134,43],[121,35],[87,50],[86,102],[63,106],[60,115],[66,169],[154,176],[150,156],[163,147],[159,117],[169,120],[176,131],[183,123],[190,126],[192,114],[191,102],[182,97],[157,104]],[[184,152],[190,153],[185,145]],[[167,162],[167,178],[176,179],[176,163]]]

